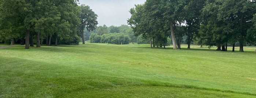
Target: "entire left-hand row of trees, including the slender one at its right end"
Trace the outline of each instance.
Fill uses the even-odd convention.
[[[52,40],[79,44],[84,29],[92,31],[97,24],[97,15],[89,6],[78,6],[78,0],[0,0],[0,41],[21,41],[25,49],[34,37],[36,47]]]

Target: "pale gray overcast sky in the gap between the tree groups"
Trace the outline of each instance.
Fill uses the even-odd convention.
[[[144,4],[146,0],[79,0],[80,4],[89,5],[98,15],[98,26],[127,25],[127,19],[131,17],[129,10],[134,4]]]

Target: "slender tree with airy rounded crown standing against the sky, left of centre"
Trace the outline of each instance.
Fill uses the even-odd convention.
[[[95,14],[92,9],[87,5],[80,5],[80,10],[81,14],[79,16],[80,19],[80,27],[79,31],[82,33],[82,42],[85,44],[85,39],[84,39],[84,29],[86,28],[88,31],[93,31],[96,29],[96,26],[98,24],[97,22],[97,14]]]

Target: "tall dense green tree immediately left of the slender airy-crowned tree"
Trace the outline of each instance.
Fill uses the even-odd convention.
[[[54,0],[55,1],[55,0]],[[55,46],[57,45],[58,39],[63,43],[79,44],[77,42],[77,29],[79,26],[79,7],[76,0],[56,0],[53,2],[60,12],[60,20],[56,22],[53,34],[55,36]]]

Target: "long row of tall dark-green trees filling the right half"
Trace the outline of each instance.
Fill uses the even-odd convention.
[[[252,0],[146,0],[130,9],[127,22],[135,35],[153,40],[151,48],[171,37],[174,49],[181,49],[186,36],[188,48],[197,39],[200,45],[223,51],[239,42],[244,52],[246,43],[256,43],[255,8]]]

